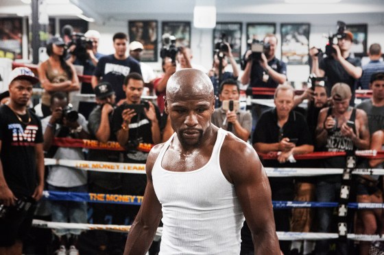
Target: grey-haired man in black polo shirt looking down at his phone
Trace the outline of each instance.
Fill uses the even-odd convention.
[[[275,108],[265,111],[254,129],[252,144],[258,153],[278,152],[277,160],[265,160],[265,167],[298,167],[294,155],[313,152],[313,142],[307,122],[302,114],[292,111],[295,92],[291,85],[276,88]],[[290,163],[292,162],[292,163]],[[293,178],[269,178],[272,200],[293,200]],[[274,211],[277,231],[289,231],[290,212]],[[290,241],[280,241],[280,249],[289,254]],[[243,245],[243,243],[241,243]]]

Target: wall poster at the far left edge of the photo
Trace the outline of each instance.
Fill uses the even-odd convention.
[[[0,48],[8,52],[8,56],[14,53],[14,59],[23,58],[22,24],[22,18],[0,18]]]

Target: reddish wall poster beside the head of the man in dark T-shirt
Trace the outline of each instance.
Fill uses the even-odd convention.
[[[157,62],[157,21],[128,21],[130,42],[138,41],[144,46],[142,62]]]

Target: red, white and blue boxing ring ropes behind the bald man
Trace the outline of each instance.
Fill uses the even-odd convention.
[[[96,140],[55,138],[53,144],[62,147],[88,148],[95,150],[120,150],[123,148],[117,142],[100,143]],[[142,145],[140,150],[149,151],[152,144]],[[259,154],[263,159],[276,159],[276,153]],[[376,150],[357,150],[355,155],[367,159],[384,158],[384,151]],[[346,152],[313,152],[307,155],[296,155],[298,160],[325,159],[328,157],[346,156]],[[130,174],[145,174],[145,164],[139,163],[114,163],[104,161],[80,161],[69,159],[45,159],[45,165],[63,165],[73,167],[78,170],[98,171],[98,172],[116,172]],[[265,172],[269,177],[286,176],[321,176],[324,174],[343,174],[342,168],[278,168],[265,167]],[[384,175],[384,170],[380,168],[355,168],[351,174],[362,175]],[[143,196],[130,196],[121,194],[104,193],[74,193],[60,191],[44,191],[45,200],[71,200],[77,202],[106,203],[106,204],[131,204],[141,205]],[[274,209],[298,209],[298,208],[317,208],[317,207],[337,207],[338,202],[303,202],[303,201],[272,201]],[[357,203],[349,202],[348,209],[384,209],[384,203]],[[70,224],[58,222],[44,222],[34,219],[33,226],[38,228],[79,228],[82,230],[110,230],[117,232],[128,232],[130,226],[101,225],[101,224]],[[160,239],[162,228],[158,228],[156,238]],[[317,232],[276,232],[279,240],[321,240],[337,239],[338,233],[317,233]],[[379,234],[346,234],[347,239],[356,241],[384,241],[384,236]]]

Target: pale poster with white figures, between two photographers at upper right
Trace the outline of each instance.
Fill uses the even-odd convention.
[[[290,65],[306,65],[309,60],[309,23],[281,24],[281,60]]]

